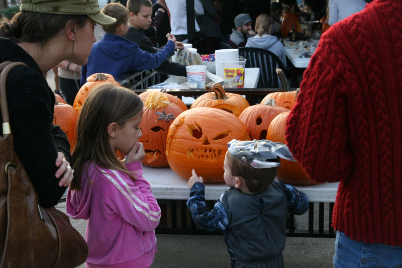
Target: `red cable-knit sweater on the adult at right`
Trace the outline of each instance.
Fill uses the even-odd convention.
[[[321,37],[287,121],[317,182],[340,181],[333,225],[402,246],[402,1],[377,0]]]

